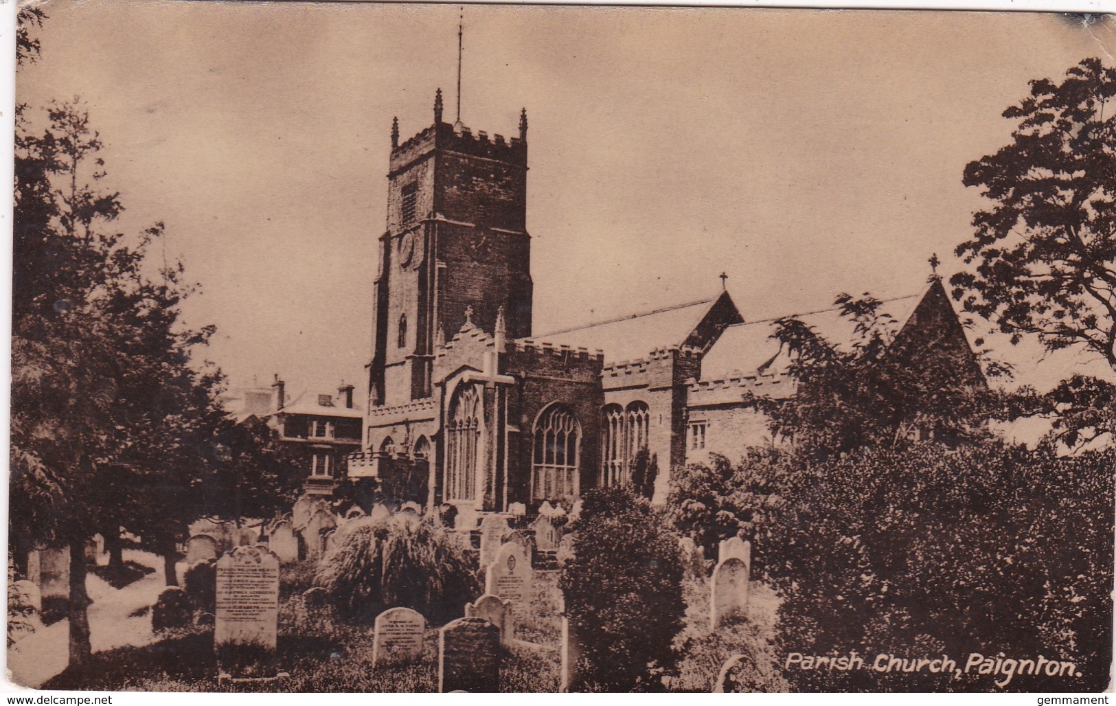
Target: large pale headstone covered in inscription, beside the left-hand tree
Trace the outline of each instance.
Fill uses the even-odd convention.
[[[219,659],[273,656],[279,621],[279,559],[256,547],[238,547],[217,562],[213,646]]]

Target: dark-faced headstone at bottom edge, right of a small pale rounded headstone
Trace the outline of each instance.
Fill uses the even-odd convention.
[[[483,618],[458,618],[437,636],[437,690],[500,690],[500,629]]]

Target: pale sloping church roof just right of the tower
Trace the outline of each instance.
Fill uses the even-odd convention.
[[[602,350],[606,364],[636,360],[660,348],[681,346],[716,300],[716,297],[703,299],[581,328],[532,336],[531,339],[555,346]]]

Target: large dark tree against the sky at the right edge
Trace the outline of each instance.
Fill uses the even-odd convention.
[[[1013,342],[1037,335],[1116,369],[1116,69],[1084,59],[1030,85],[1003,112],[1012,143],[965,167],[992,205],[956,248],[973,269],[951,278],[953,296]]]

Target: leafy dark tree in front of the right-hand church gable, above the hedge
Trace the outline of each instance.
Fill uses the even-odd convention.
[[[985,437],[983,423],[1004,403],[988,389],[960,322],[941,315],[949,301],[939,282],[920,307],[926,318],[921,336],[896,330],[901,322],[868,294],[840,294],[835,303],[854,325],[850,346],[798,319],[776,325],[795,395],[744,397],[764,413],[773,435],[818,457],[899,446],[916,435],[950,443]]]

